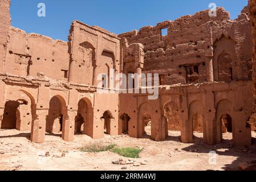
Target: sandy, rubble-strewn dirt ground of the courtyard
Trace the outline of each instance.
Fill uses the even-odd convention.
[[[147,130],[148,131],[148,130]],[[150,131],[150,130],[149,130]],[[0,131],[0,170],[237,170],[238,164],[256,158],[256,145],[233,147],[231,134],[224,134],[224,142],[216,146],[206,146],[202,134],[194,133],[195,142],[180,142],[180,133],[169,131],[164,142],[150,138],[136,139],[121,135],[103,139],[91,139],[86,135],[75,135],[74,142],[64,142],[59,135],[46,134],[44,144],[31,143],[30,133],[18,130]],[[253,133],[256,138],[256,134]],[[139,147],[143,149],[135,164],[112,164],[112,161],[128,158],[112,152],[80,152],[84,144],[102,142],[117,144],[119,147]],[[217,155],[210,155],[216,151]],[[47,155],[46,155],[47,154]],[[216,163],[215,163],[216,162]]]

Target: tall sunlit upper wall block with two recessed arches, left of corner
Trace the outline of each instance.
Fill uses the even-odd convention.
[[[97,80],[101,73],[108,76],[108,81],[113,79],[111,69],[115,74],[119,73],[120,39],[117,35],[75,20],[71,25],[69,40],[70,82],[96,86],[101,82]]]

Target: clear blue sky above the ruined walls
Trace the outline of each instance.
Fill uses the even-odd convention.
[[[46,17],[37,16],[40,2]],[[11,18],[12,26],[28,33],[67,40],[74,19],[120,34],[206,10],[212,2],[230,11],[231,19],[247,5],[247,0],[11,0]]]

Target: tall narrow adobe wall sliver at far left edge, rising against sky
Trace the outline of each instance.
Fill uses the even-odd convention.
[[[0,71],[2,71],[2,60],[5,55],[8,31],[11,24],[10,0],[0,1]]]

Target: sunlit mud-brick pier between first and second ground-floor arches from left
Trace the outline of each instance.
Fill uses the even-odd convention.
[[[46,117],[48,109],[36,109],[34,121],[32,121],[31,141],[35,143],[44,143],[46,133]]]

